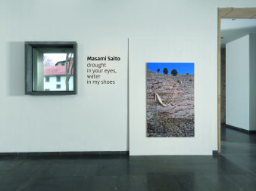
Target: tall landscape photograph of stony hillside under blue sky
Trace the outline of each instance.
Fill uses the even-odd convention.
[[[194,63],[147,63],[147,137],[195,137]]]

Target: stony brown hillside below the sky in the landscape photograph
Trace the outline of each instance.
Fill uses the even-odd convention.
[[[166,107],[155,104],[154,109],[155,94],[163,103],[167,102],[177,80],[183,83],[177,86],[172,104]],[[194,75],[173,76],[148,70],[147,137],[195,137],[194,119]],[[154,120],[157,120],[156,127]]]

